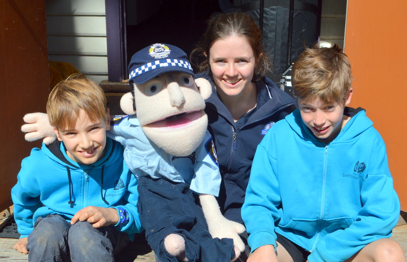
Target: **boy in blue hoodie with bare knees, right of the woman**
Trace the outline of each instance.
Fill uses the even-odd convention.
[[[351,66],[336,44],[307,48],[298,109],[258,145],[242,208],[247,261],[405,261],[389,237],[400,212],[385,143],[350,108]]]

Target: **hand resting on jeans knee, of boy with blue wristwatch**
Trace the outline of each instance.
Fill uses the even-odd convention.
[[[118,211],[113,208],[100,208],[89,206],[79,210],[71,219],[71,224],[77,221],[88,221],[93,227],[115,225],[119,222]]]

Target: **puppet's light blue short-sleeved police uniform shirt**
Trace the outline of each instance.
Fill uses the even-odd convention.
[[[208,131],[199,147],[187,157],[170,155],[157,147],[144,134],[135,115],[115,117],[107,135],[124,145],[124,159],[136,176],[184,182],[198,194],[218,196],[221,177],[210,154],[213,144]]]

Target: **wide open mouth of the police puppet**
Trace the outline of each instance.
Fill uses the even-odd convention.
[[[174,129],[185,128],[194,125],[199,121],[201,117],[200,111],[183,112],[175,115],[171,115],[163,120],[150,123],[147,126],[160,131],[172,131]]]

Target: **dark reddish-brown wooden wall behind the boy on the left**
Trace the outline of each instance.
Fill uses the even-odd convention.
[[[12,205],[21,160],[41,146],[24,140],[23,115],[45,112],[48,93],[44,0],[0,1],[0,212]]]

